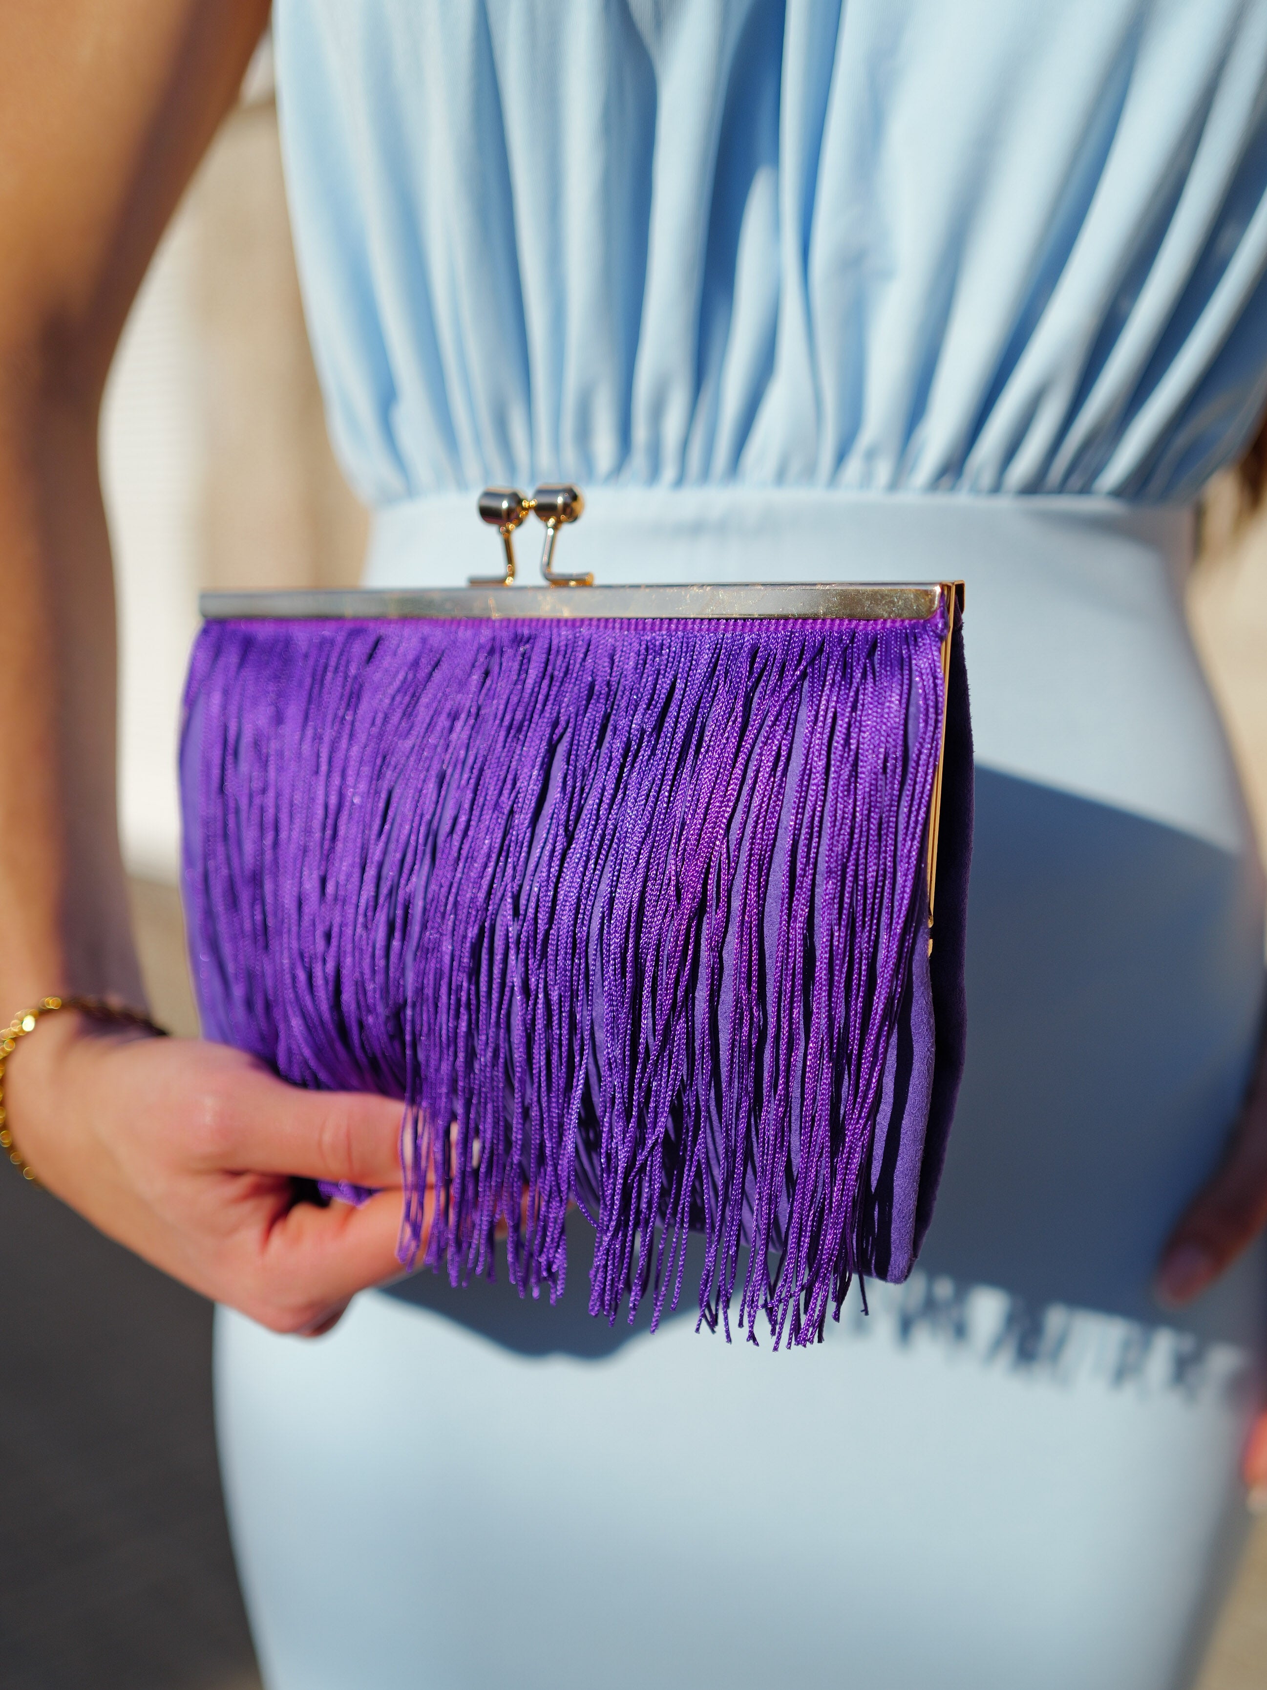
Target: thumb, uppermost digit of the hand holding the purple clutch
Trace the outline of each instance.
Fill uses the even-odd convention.
[[[270,1073],[248,1073],[208,1149],[220,1168],[296,1175],[350,1185],[400,1185],[404,1105],[362,1092],[304,1092]]]

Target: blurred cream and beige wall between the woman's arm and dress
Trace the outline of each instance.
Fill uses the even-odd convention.
[[[176,730],[203,588],[341,586],[367,515],[304,333],[265,49],[155,255],[110,377],[101,470],[120,617],[120,825],[145,962],[193,1029],[171,933]]]

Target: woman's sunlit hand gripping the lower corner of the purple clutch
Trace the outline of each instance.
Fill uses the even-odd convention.
[[[69,1011],[22,1039],[5,1092],[41,1183],[274,1332],[324,1332],[356,1291],[400,1273],[400,1104],[302,1092],[228,1046]],[[292,1176],[383,1190],[321,1208],[296,1202]]]

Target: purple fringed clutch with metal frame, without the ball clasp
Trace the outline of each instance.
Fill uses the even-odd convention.
[[[204,608],[181,747],[203,1028],[402,1100],[402,1262],[434,1181],[422,1261],[454,1284],[505,1227],[514,1284],[557,1296],[579,1203],[608,1320],[676,1305],[688,1230],[726,1335],[735,1295],[750,1333],[809,1342],[855,1273],[905,1278],[963,1061],[953,590]]]

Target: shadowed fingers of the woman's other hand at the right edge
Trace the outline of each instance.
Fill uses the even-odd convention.
[[[1267,1222],[1267,1095],[1255,1087],[1228,1153],[1171,1234],[1157,1269],[1164,1303],[1189,1303]]]

